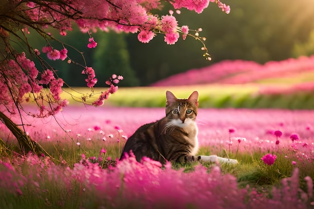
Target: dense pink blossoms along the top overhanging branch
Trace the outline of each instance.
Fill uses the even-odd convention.
[[[220,0],[189,0],[169,1],[175,9],[187,8],[188,10],[202,13],[209,3],[215,3],[223,12],[229,14],[230,7],[221,3]],[[160,0],[112,0],[112,1],[86,1],[76,0],[69,2],[46,1],[28,2],[28,10],[25,13],[36,23],[44,22],[58,29],[61,35],[72,30],[71,19],[83,32],[99,28],[108,31],[123,31],[137,33],[138,40],[148,43],[156,34],[165,34],[165,42],[175,44],[182,28],[174,16],[162,16],[161,18],[151,14],[151,10],[158,9]],[[62,8],[62,10],[60,10]],[[45,26],[46,26],[45,25]],[[184,30],[184,29],[183,29]],[[183,33],[183,39],[188,35]],[[190,35],[190,34],[189,34]],[[194,35],[192,35],[194,36]],[[97,43],[92,37],[89,38],[88,48],[95,48]],[[54,53],[54,52],[53,52]]]

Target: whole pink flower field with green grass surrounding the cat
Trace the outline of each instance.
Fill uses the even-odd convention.
[[[1,124],[0,208],[314,207],[313,111],[200,109],[199,154],[237,165],[117,160],[128,136],[164,115],[77,105],[56,118],[24,116],[27,133],[51,156],[10,152],[17,141]]]

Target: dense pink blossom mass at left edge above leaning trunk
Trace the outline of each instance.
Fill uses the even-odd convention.
[[[41,75],[41,79],[38,75]],[[49,86],[44,91],[43,85]],[[60,97],[63,80],[56,79],[54,73],[47,69],[39,73],[35,63],[26,58],[25,53],[17,54],[15,59],[0,66],[0,104],[6,106],[10,113],[15,114],[16,108],[24,101],[35,100],[40,113],[34,117],[45,117],[59,112],[66,106],[67,100]],[[49,108],[45,105],[50,104]]]

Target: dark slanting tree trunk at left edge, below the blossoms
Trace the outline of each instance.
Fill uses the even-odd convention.
[[[8,118],[8,116],[6,116],[1,111],[0,120],[9,128],[12,134],[17,138],[22,152],[28,153],[29,151],[32,151],[36,154],[44,153],[50,156],[40,144],[32,140],[30,136],[28,136],[21,128],[18,127],[16,123],[14,123],[10,118]]]

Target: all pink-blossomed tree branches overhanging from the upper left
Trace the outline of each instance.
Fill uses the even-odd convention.
[[[174,9],[187,8],[197,13],[203,12],[210,3],[215,3],[227,14],[230,12],[229,6],[219,0],[168,0],[166,2],[173,5]],[[72,30],[72,24],[76,24],[83,33],[88,33],[88,48],[97,46],[97,42],[89,33],[96,29],[138,33],[137,38],[142,43],[148,43],[157,34],[163,34],[165,42],[169,45],[175,44],[182,34],[183,39],[192,36],[200,41],[203,44],[202,50],[205,51],[204,57],[210,60],[204,44],[206,39],[199,36],[202,30],[189,30],[188,26],[179,27],[173,13],[162,17],[154,15],[152,10],[160,9],[161,4],[160,0],[3,1],[0,6],[0,40],[4,46],[0,54],[0,105],[5,106],[10,113],[15,113],[15,110],[22,108],[24,101],[34,100],[39,107],[39,113],[32,114],[34,117],[54,115],[66,106],[67,101],[60,97],[65,83],[58,76],[57,71],[44,61],[41,52],[50,60],[67,60],[69,64],[77,64],[81,67],[82,74],[86,75],[86,85],[92,90],[91,94],[82,94],[82,102],[95,95],[93,87],[97,83],[97,78],[93,68],[87,66],[83,55],[83,64],[72,60],[66,48],[71,46],[55,39],[48,32],[49,28],[58,30],[62,36],[66,36],[67,31]],[[29,28],[34,29],[47,42],[41,52],[28,43]],[[22,36],[19,31],[22,31]],[[12,46],[12,36],[26,46],[27,53],[19,53]],[[62,48],[53,48],[50,40],[58,41]],[[32,59],[39,60],[40,70],[27,58],[28,54]],[[117,84],[122,79],[122,76],[117,75],[109,78],[106,82],[108,89],[100,93],[91,104],[102,105],[110,94],[117,91]]]

